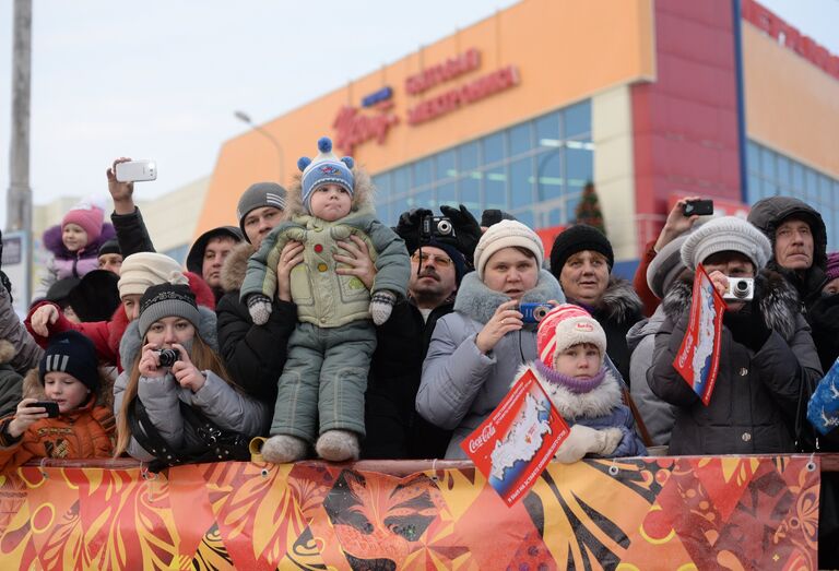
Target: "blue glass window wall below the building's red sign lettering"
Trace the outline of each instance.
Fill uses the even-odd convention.
[[[533,228],[568,224],[568,201],[592,180],[591,103],[582,102],[377,174],[382,222],[410,207],[463,203],[513,214]]]

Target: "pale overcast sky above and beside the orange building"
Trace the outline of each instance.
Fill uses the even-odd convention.
[[[586,1],[586,0],[579,0]],[[155,158],[154,197],[210,175],[221,144],[512,0],[34,0],[29,179],[36,204],[107,198],[105,169]],[[839,53],[839,0],[765,0]],[[0,2],[0,226],[11,117],[11,0]]]

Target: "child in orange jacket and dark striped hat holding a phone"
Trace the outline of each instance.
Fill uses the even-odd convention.
[[[24,381],[24,398],[0,420],[0,472],[36,457],[109,457],[114,414],[97,396],[93,343],[75,331],[55,335]]]

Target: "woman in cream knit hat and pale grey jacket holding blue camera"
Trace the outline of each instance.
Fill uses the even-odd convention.
[[[437,322],[423,365],[416,409],[429,423],[453,429],[447,459],[464,459],[463,438],[507,394],[519,366],[536,358],[536,329],[522,322],[520,302],[564,302],[559,283],[542,270],[539,236],[503,221],[475,248],[454,312]]]

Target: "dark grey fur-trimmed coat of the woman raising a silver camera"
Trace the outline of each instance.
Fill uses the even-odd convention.
[[[647,380],[653,393],[678,407],[671,454],[793,452],[801,383],[813,386],[822,370],[795,290],[766,270],[756,284],[756,302],[771,333],[755,353],[723,328],[719,374],[708,406],[673,368],[689,319],[693,275],[676,282],[664,297],[665,319]]]

